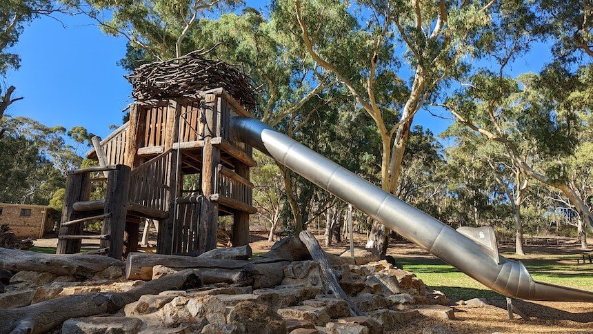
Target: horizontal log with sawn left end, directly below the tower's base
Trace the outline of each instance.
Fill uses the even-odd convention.
[[[254,282],[254,265],[246,261],[146,253],[128,255],[125,262],[125,277],[148,281],[152,279],[152,267],[157,264],[174,270],[197,269],[205,284],[225,282],[246,286]]]

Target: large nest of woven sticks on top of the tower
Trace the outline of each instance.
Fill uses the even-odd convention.
[[[132,96],[137,101],[195,97],[199,92],[222,87],[248,110],[256,104],[254,88],[241,66],[206,59],[199,51],[147,63],[125,78],[132,83]]]

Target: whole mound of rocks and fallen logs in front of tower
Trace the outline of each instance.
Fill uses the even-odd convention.
[[[420,315],[453,317],[446,297],[413,274],[386,261],[352,264],[306,231],[265,257],[249,246],[130,253],[124,271],[89,256],[0,248],[10,279],[0,333],[383,333]]]

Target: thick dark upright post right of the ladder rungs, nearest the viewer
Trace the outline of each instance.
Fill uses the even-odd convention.
[[[109,247],[107,255],[114,259],[121,259],[123,252],[123,230],[125,216],[128,213],[128,193],[130,190],[130,167],[117,165],[110,170],[107,181],[107,195],[105,196],[105,215],[110,214],[103,222],[102,235],[109,235],[101,240],[100,248]]]

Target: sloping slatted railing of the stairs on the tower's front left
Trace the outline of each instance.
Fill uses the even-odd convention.
[[[129,202],[168,211],[171,152],[167,150],[132,170]]]

